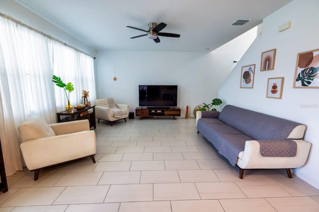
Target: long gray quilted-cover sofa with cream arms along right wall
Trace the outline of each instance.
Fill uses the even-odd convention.
[[[231,165],[245,169],[286,169],[306,163],[311,143],[306,126],[278,117],[226,105],[221,112],[197,111],[197,133],[211,142]]]

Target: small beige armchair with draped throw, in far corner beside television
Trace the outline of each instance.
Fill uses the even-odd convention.
[[[130,112],[130,105],[115,104],[113,98],[97,99],[95,100],[95,117],[100,122],[100,119],[110,121],[111,126],[117,120],[128,118]]]

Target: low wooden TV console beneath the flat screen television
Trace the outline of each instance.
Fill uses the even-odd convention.
[[[135,109],[135,116],[140,116],[141,119],[143,117],[154,117],[157,116],[172,116],[175,119],[175,116],[180,116],[180,108],[179,107],[137,107]]]

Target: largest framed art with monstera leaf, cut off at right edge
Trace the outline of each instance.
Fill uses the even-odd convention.
[[[295,88],[319,88],[319,49],[297,55]]]

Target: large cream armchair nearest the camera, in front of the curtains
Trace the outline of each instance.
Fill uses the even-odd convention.
[[[38,179],[40,168],[90,156],[95,163],[95,132],[89,120],[48,125],[38,116],[28,118],[18,127],[26,167]]]

